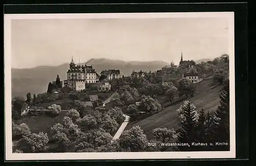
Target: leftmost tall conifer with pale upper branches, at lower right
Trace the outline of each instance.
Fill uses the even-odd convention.
[[[198,123],[199,115],[196,111],[196,106],[192,104],[190,101],[184,101],[184,104],[177,109],[178,117],[181,125],[181,129],[178,134],[178,143],[188,143],[191,145],[193,141],[195,141],[196,137],[196,126]],[[191,147],[182,147],[180,146],[179,149],[181,151],[191,151],[193,150],[194,146]]]

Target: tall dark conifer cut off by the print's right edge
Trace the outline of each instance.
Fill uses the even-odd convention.
[[[228,146],[216,146],[215,150],[229,151],[229,80],[224,82],[224,87],[220,93],[220,104],[216,110],[216,142],[227,143]]]

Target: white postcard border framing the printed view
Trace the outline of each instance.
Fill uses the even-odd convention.
[[[88,18],[228,18],[229,85],[230,85],[230,151],[222,152],[106,152],[106,153],[12,153],[11,132],[11,20],[12,19],[88,19]],[[235,80],[234,80],[234,12],[186,13],[93,13],[93,14],[5,14],[5,152],[6,160],[76,160],[76,159],[185,159],[235,158]]]

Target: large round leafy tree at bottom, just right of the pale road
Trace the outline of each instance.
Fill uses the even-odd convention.
[[[124,130],[119,137],[120,147],[125,151],[138,152],[147,147],[148,140],[139,126]]]

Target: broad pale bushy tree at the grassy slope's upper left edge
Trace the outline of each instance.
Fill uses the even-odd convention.
[[[140,101],[139,109],[141,111],[146,111],[147,113],[152,114],[152,112],[156,111],[159,112],[162,110],[161,104],[151,98],[150,96],[145,97]]]

